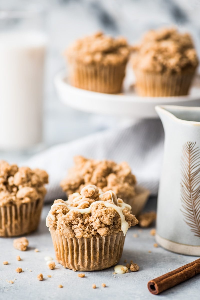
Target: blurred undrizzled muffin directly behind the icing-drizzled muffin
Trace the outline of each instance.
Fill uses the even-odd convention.
[[[117,197],[131,205],[137,217],[143,210],[149,197],[149,190],[137,186],[136,178],[126,162],[116,164],[114,161],[99,161],[75,156],[75,166],[60,183],[67,195],[81,191],[87,184],[94,184],[103,192],[113,190]]]

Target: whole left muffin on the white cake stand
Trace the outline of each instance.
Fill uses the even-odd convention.
[[[97,32],[75,41],[64,52],[70,84],[89,91],[119,93],[130,47],[125,38]]]

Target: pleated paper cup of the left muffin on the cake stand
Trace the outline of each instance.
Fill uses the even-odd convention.
[[[103,65],[69,64],[69,82],[71,85],[88,91],[100,93],[120,93],[125,76],[126,64]]]

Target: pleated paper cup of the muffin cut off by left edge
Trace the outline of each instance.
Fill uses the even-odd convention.
[[[19,236],[35,231],[40,222],[43,199],[0,206],[0,236]]]

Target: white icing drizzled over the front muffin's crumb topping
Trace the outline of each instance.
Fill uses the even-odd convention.
[[[85,187],[84,187],[84,188],[85,188]],[[87,188],[88,188],[88,186],[87,186]],[[91,185],[90,188],[93,188],[93,186]],[[82,189],[82,190],[83,190],[83,189]],[[81,190],[81,191],[82,191],[82,190]],[[93,191],[95,192],[95,188],[93,188]],[[57,202],[57,203],[54,203],[54,204],[51,206],[51,209],[52,209],[54,206],[63,205],[63,206],[66,206],[68,210],[78,211],[78,212],[80,212],[81,214],[89,214],[89,213],[91,213],[91,208],[92,208],[94,205],[100,204],[100,203],[101,203],[101,204],[103,204],[104,206],[106,206],[106,207],[111,207],[111,208],[113,208],[113,209],[115,209],[115,210],[117,211],[117,213],[119,214],[119,216],[120,216],[120,218],[121,218],[121,230],[122,230],[122,232],[123,232],[123,234],[124,234],[124,236],[125,236],[125,235],[126,235],[126,232],[127,232],[127,230],[128,230],[129,225],[128,225],[128,222],[126,222],[125,216],[123,215],[122,211],[123,211],[125,208],[128,208],[128,210],[131,210],[131,206],[128,205],[128,204],[126,204],[126,203],[124,203],[122,200],[121,200],[122,202],[121,202],[121,201],[118,201],[118,200],[117,200],[116,193],[113,192],[113,191],[111,191],[111,190],[108,190],[108,191],[106,191],[105,193],[100,194],[100,195],[99,195],[99,198],[101,198],[101,197],[102,197],[104,194],[106,194],[106,193],[110,193],[111,199],[112,199],[112,202],[113,202],[113,203],[110,203],[110,202],[107,202],[107,201],[98,200],[98,201],[92,202],[92,203],[90,204],[90,206],[87,207],[87,208],[80,208],[81,205],[83,205],[83,204],[85,204],[85,203],[89,204],[89,202],[88,202],[88,201],[82,201],[77,207],[73,207],[73,206],[71,206],[71,205],[68,205],[68,203],[67,203],[67,201],[66,201],[66,202]],[[115,205],[115,203],[114,203],[114,201],[113,201],[113,195],[114,195],[115,200],[116,200],[116,202],[117,202],[117,204],[118,204],[119,206]],[[84,197],[83,197],[83,198],[84,198]],[[74,200],[75,200],[75,199],[73,199],[72,202],[74,202]],[[83,200],[83,199],[81,199],[81,200]],[[80,202],[80,201],[77,201],[77,202]],[[56,212],[57,212],[57,213],[60,213],[60,212],[62,213],[62,209],[58,209]],[[50,214],[50,212],[49,212],[49,214],[48,214],[48,216],[47,216],[47,218],[46,218],[46,226],[47,226],[47,227],[49,227],[49,225],[48,225],[48,217],[51,217],[51,220],[52,220],[52,221],[55,221],[55,216],[54,216],[53,214]]]

